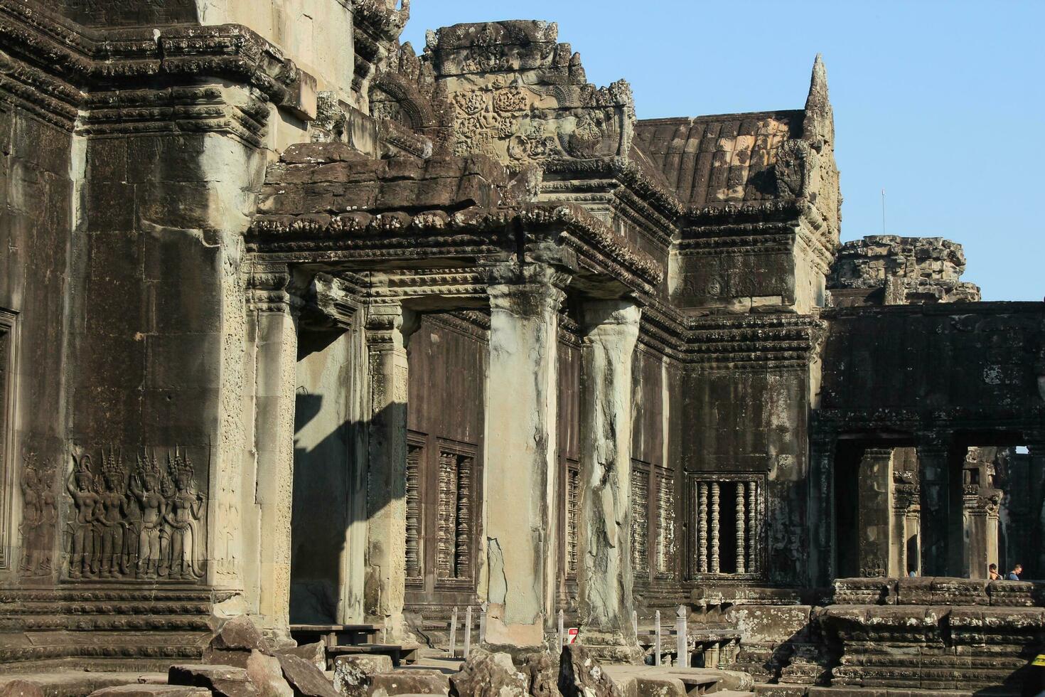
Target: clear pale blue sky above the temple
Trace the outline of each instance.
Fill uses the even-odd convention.
[[[965,246],[984,300],[1045,297],[1045,0],[414,0],[403,34],[542,19],[638,118],[800,109],[817,52],[835,110],[842,239]]]

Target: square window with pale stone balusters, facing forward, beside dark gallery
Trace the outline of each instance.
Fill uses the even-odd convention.
[[[761,474],[691,474],[690,577],[764,577],[765,479]]]

